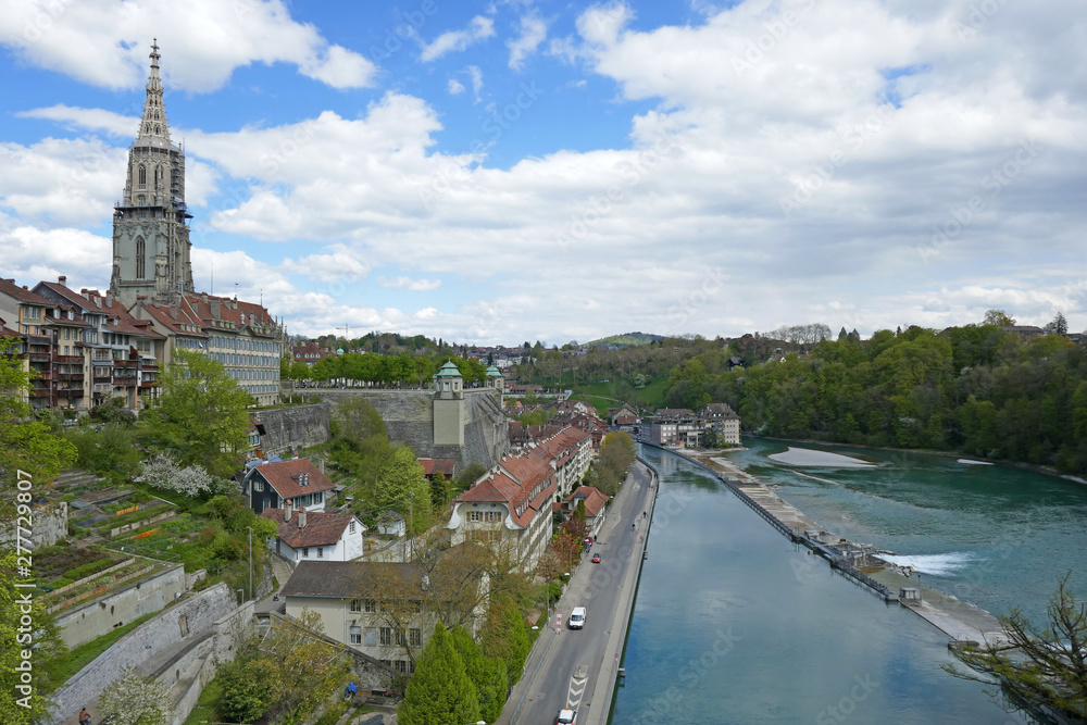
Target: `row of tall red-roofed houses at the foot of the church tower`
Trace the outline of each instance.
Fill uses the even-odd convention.
[[[179,349],[222,362],[258,404],[279,400],[283,327],[263,307],[237,299],[193,293],[126,309],[110,292],[70,289],[64,276],[33,288],[0,279],[0,337],[14,339],[7,352],[33,374],[35,410],[85,411],[116,398],[141,410]]]

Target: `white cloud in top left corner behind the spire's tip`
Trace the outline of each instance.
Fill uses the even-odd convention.
[[[293,63],[335,88],[370,86],[376,73],[363,55],[293,21],[280,0],[21,2],[0,13],[0,42],[24,62],[105,88],[142,85],[152,37],[177,90],[221,88],[254,62]]]

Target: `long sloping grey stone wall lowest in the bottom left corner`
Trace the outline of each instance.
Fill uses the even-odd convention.
[[[55,725],[93,701],[110,683],[121,676],[126,665],[141,666],[186,637],[203,636],[203,630],[214,628],[236,609],[233,592],[223,583],[178,601],[159,616],[129,632],[76,673],[53,696],[55,707],[49,722]]]

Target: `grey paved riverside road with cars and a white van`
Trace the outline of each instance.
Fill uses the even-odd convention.
[[[599,552],[603,561],[592,564],[590,554],[584,555],[559,602],[563,617],[560,632],[555,633],[552,614],[549,630],[537,640],[525,677],[514,688],[499,723],[553,723],[559,710],[567,705],[578,711],[578,725],[603,722],[611,692],[608,686],[617,664],[614,655],[625,637],[627,608],[648,528],[642,512],[649,509],[654,492],[650,480],[649,472],[636,463],[630,478],[609,505],[607,521],[592,547],[592,553]],[[584,629],[566,627],[574,607],[586,608]]]

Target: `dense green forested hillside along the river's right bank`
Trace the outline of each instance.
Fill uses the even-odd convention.
[[[880,330],[728,372],[730,354],[673,368],[667,404],[727,402],[745,429],[770,436],[1087,471],[1087,355],[1058,335],[1023,341],[996,325]]]

